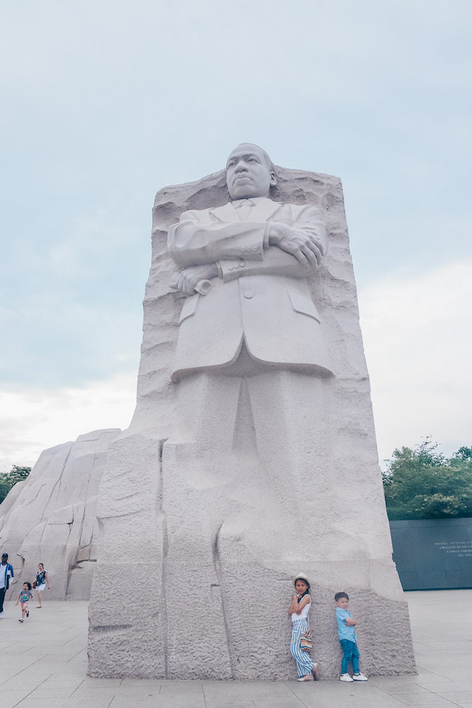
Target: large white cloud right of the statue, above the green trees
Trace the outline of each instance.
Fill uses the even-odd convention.
[[[359,292],[380,459],[430,435],[472,443],[472,262]]]

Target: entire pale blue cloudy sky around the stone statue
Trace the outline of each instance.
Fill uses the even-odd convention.
[[[472,444],[469,0],[0,8],[0,471],[129,425],[154,195],[243,141],[343,180],[381,460]]]

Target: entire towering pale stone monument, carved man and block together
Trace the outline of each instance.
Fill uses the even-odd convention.
[[[410,673],[340,180],[241,144],[226,186],[226,204],[222,171],[154,202],[137,409],[100,487],[91,675],[294,678],[301,570],[323,678],[340,588],[369,620],[366,671]],[[122,549],[155,588],[139,612]]]

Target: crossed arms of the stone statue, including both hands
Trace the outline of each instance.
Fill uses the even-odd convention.
[[[301,210],[294,223],[281,219],[203,224],[199,212],[185,212],[168,232],[169,253],[183,268],[171,287],[192,295],[204,278],[225,282],[244,275],[305,278],[321,264],[326,246],[326,229],[315,207]]]

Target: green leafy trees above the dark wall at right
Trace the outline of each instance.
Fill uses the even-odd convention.
[[[382,478],[391,520],[472,516],[471,447],[447,458],[426,438],[413,450],[394,450]]]

